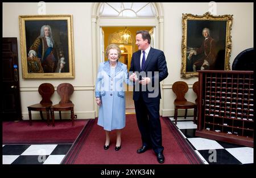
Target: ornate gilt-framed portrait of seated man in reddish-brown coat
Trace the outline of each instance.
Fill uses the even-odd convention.
[[[197,70],[230,70],[233,15],[182,14],[181,78]]]

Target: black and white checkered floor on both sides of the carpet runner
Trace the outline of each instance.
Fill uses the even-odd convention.
[[[173,118],[170,118],[173,121]],[[253,148],[195,137],[192,118],[178,119],[177,129],[205,164],[253,163]],[[72,144],[3,145],[3,164],[60,164]]]

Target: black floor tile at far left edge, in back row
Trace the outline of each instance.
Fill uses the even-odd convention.
[[[5,145],[2,155],[21,155],[31,145]]]

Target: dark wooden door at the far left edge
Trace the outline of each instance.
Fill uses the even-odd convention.
[[[2,120],[22,120],[17,38],[2,40]]]

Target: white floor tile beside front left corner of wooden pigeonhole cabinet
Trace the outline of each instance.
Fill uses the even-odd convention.
[[[224,149],[218,142],[207,138],[188,138],[196,150]]]

